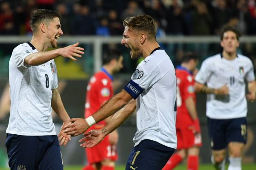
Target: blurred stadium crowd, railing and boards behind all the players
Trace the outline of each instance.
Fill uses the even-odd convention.
[[[122,20],[128,16],[150,14],[158,24],[157,40],[173,64],[177,66],[183,53],[192,51],[200,58],[198,68],[204,59],[221,52],[219,31],[221,26],[229,23],[243,33],[238,52],[249,57],[256,68],[254,0],[0,0],[0,169],[6,167],[8,161],[5,130],[10,105],[9,58],[15,46],[31,39],[29,19],[31,12],[37,8],[54,9],[62,14],[64,36],[58,40],[58,48],[76,42],[84,48],[84,55],[76,62],[63,57],[55,59],[58,91],[70,117],[84,116],[87,81],[101,68],[102,54],[106,49],[117,48],[124,56],[124,68],[114,75],[114,91],[119,92],[131,78],[140,59],[132,60],[129,50],[120,44]],[[197,95],[203,139],[201,164],[210,163],[205,101],[205,95]],[[243,162],[249,169],[253,169],[256,159],[255,111],[255,102],[248,103],[248,142],[243,150]],[[54,113],[53,116],[58,133],[61,121]],[[122,165],[133,147],[135,131],[136,113],[118,128],[119,159],[116,163],[121,166],[120,169],[123,169]],[[78,165],[76,168],[79,169],[86,164],[84,149],[78,142],[81,137],[73,137],[66,147],[61,147],[65,166]]]

